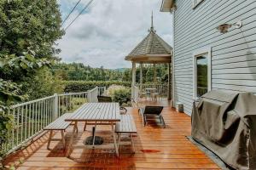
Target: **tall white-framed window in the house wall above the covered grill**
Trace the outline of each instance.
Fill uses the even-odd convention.
[[[211,49],[201,49],[194,54],[194,97],[201,97],[211,90]]]

